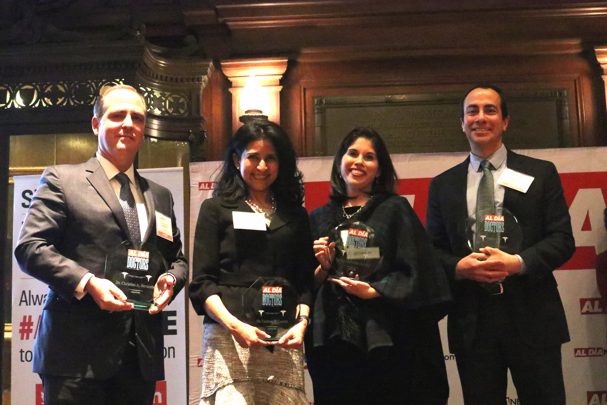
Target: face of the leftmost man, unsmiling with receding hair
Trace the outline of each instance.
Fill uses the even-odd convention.
[[[93,117],[93,132],[98,136],[97,151],[120,171],[131,167],[143,141],[145,109],[141,97],[129,89],[106,94],[103,117]],[[126,166],[126,167],[125,167]]]

